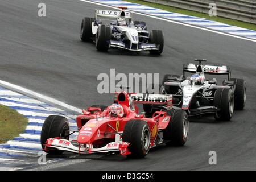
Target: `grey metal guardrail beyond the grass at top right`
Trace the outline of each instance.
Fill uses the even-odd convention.
[[[143,0],[180,9],[209,13],[209,3],[216,3],[217,16],[256,24],[256,1],[252,0]]]

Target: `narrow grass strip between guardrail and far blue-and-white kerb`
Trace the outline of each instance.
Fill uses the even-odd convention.
[[[210,17],[208,14],[204,14],[204,13],[178,9],[176,7],[160,5],[160,4],[157,4],[157,3],[151,3],[151,2],[146,2],[146,1],[142,1],[142,0],[125,0],[125,1],[138,3],[138,4],[141,4],[141,5],[147,5],[147,6],[155,7],[155,8],[166,10],[166,11],[171,11],[171,12],[174,12],[174,13],[181,13],[181,14],[185,14],[185,15],[189,15],[189,16],[196,16],[196,17],[199,17],[199,18],[206,18],[206,19],[209,19],[209,20],[214,20],[216,22],[230,24],[230,25],[233,25],[233,26],[247,28],[247,29],[250,29],[250,30],[256,30],[256,25],[252,24],[252,23],[240,22],[238,20],[233,20],[233,19],[228,19],[228,18]]]

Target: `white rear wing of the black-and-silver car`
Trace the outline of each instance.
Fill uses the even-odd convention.
[[[225,65],[204,65],[203,70],[205,74],[210,75],[228,75],[230,78],[231,69]],[[196,65],[189,63],[183,64],[183,75],[184,72],[196,73]]]

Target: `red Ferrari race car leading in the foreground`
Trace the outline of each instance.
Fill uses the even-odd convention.
[[[165,105],[151,118],[138,114],[137,103]],[[172,110],[172,96],[115,93],[114,104],[92,106],[76,118],[78,130],[70,130],[67,118],[50,115],[44,121],[41,143],[48,154],[113,153],[143,158],[150,148],[166,143],[183,146],[188,137],[188,116]],[[77,139],[69,136],[77,132]]]

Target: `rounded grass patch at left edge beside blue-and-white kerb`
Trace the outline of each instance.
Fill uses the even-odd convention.
[[[0,143],[18,137],[26,129],[28,119],[10,107],[0,105]]]

